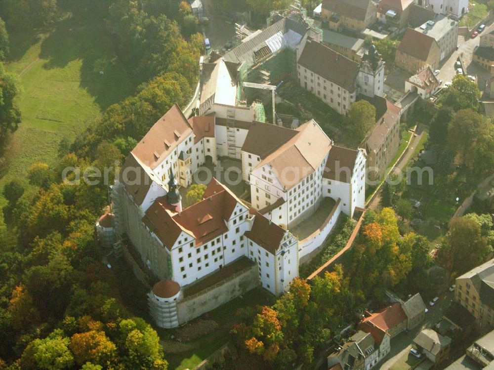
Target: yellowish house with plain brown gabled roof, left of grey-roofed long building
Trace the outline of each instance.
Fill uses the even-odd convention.
[[[439,67],[441,49],[434,38],[409,28],[396,50],[395,64],[414,75],[426,65]]]

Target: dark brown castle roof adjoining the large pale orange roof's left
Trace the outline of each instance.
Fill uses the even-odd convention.
[[[299,131],[271,123],[252,122],[242,150],[266,158]]]

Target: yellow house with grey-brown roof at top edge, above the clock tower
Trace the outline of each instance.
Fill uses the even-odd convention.
[[[332,30],[364,31],[377,19],[376,4],[372,0],[323,0],[321,17]]]

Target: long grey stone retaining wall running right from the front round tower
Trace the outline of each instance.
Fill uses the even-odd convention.
[[[222,282],[179,301],[178,323],[195,319],[259,285],[257,264],[253,264]]]

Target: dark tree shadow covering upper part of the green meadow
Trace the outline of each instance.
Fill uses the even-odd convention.
[[[40,58],[46,60],[43,68],[60,69],[54,79],[80,82],[104,110],[132,94],[139,83],[128,76],[115,50],[104,20],[91,18],[83,8],[59,21],[42,42]],[[80,68],[70,68],[78,61]]]

